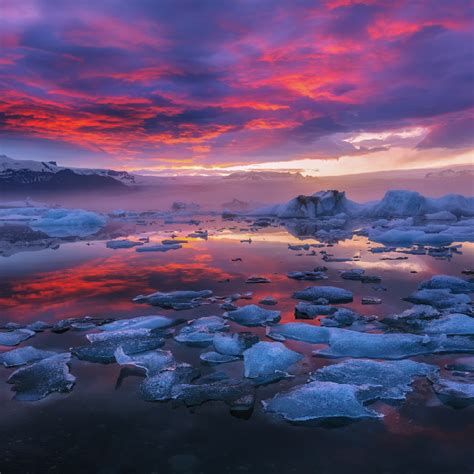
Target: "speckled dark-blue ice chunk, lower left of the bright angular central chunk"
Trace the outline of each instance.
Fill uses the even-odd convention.
[[[166,401],[172,398],[172,389],[178,384],[188,384],[199,377],[199,371],[189,364],[162,370],[147,377],[139,387],[140,396],[147,401]]]

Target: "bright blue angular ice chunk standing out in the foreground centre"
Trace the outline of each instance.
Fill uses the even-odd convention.
[[[303,358],[281,342],[258,342],[244,351],[244,375],[256,378],[285,371]]]

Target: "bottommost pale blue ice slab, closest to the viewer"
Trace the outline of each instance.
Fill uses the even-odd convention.
[[[293,422],[380,418],[359,400],[360,387],[333,382],[311,382],[262,402],[264,410]]]

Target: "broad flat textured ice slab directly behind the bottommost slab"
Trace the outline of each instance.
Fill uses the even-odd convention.
[[[317,370],[310,380],[360,386],[358,399],[361,401],[404,400],[413,390],[412,383],[416,378],[437,372],[434,365],[412,360],[345,360]]]

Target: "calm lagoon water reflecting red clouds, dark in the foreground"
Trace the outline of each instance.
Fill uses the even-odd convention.
[[[293,270],[329,268],[324,285],[354,292],[356,311],[379,316],[401,312],[410,305],[401,300],[421,280],[446,273],[460,276],[472,265],[474,245],[464,244],[451,261],[409,255],[408,260],[383,261],[386,254],[371,254],[363,237],[325,248],[337,257],[361,255],[360,261],[326,263],[320,255],[288,249],[301,243],[284,228],[259,232],[239,230],[242,223],[208,221],[207,241],[190,239],[182,249],[166,253],[112,250],[104,241],[62,244],[58,249],[16,253],[0,261],[1,322],[52,322],[68,317],[132,317],[168,314],[193,319],[220,315],[218,304],[190,311],[166,311],[138,305],[131,299],[153,291],[211,289],[216,295],[253,291],[251,303],[274,296],[282,322],[294,321],[293,291],[311,285],[286,277]],[[229,228],[233,227],[235,228]],[[224,230],[222,228],[225,227]],[[128,224],[130,235],[150,235],[152,242],[174,231],[185,236],[195,227]],[[219,230],[221,229],[221,230]],[[252,238],[252,243],[240,240]],[[305,243],[316,243],[305,240]],[[300,254],[303,255],[300,255]],[[399,254],[394,254],[399,255]],[[240,257],[242,261],[233,262]],[[344,281],[338,271],[364,268],[380,275],[387,291],[374,285]],[[416,272],[416,273],[415,273]],[[262,275],[269,284],[250,285],[250,275]],[[318,283],[316,283],[318,284]],[[378,306],[362,306],[361,296],[383,299]],[[237,304],[248,304],[239,301]],[[318,324],[312,321],[312,324]],[[238,330],[247,330],[234,326]],[[254,330],[262,338],[262,328]],[[84,332],[49,331],[23,343],[38,348],[67,350],[85,343]],[[69,394],[54,394],[40,402],[12,401],[11,386],[4,383],[11,369],[0,370],[0,471],[91,473],[472,473],[474,408],[443,405],[425,381],[400,405],[378,403],[381,421],[363,421],[338,428],[292,425],[263,413],[260,400],[305,381],[307,373],[334,363],[311,357],[314,346],[288,342],[305,354],[296,377],[257,391],[257,403],[247,419],[232,416],[227,405],[211,402],[189,409],[176,403],[149,403],[137,393],[141,376],[116,364],[101,365],[73,359],[77,377]],[[6,348],[2,348],[6,349]],[[180,361],[191,362],[203,373],[214,370],[242,375],[242,363],[210,368],[199,354],[209,349],[190,348],[168,339],[164,349]],[[443,367],[455,356],[418,357]]]

